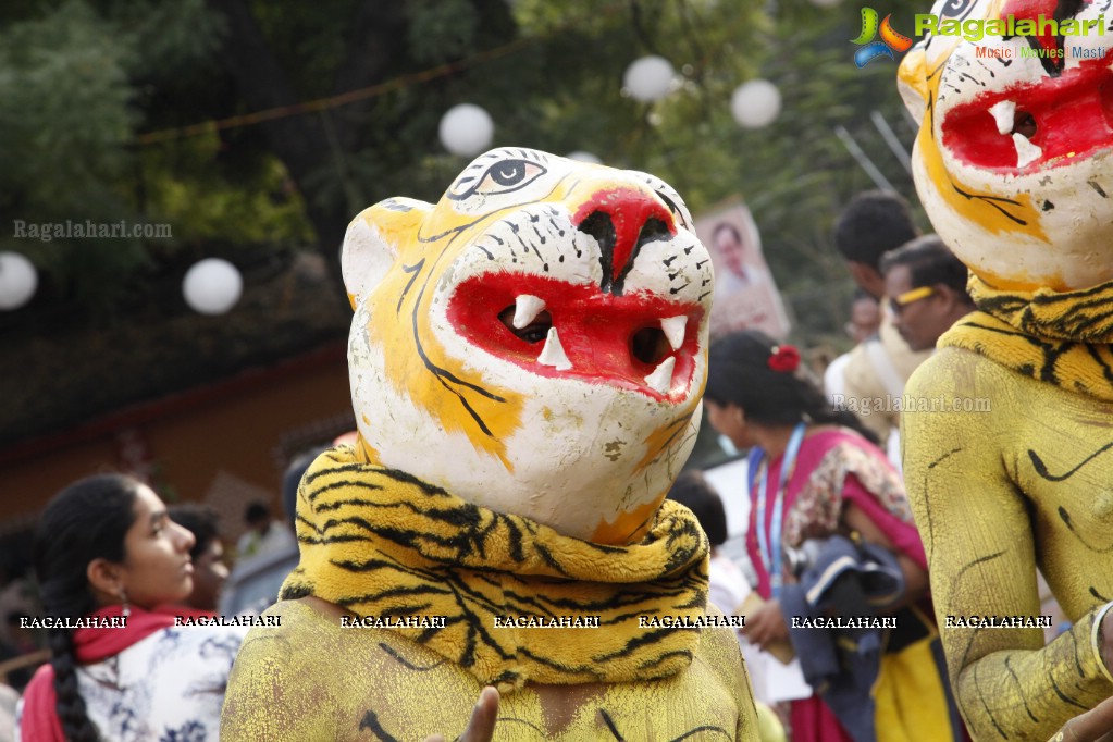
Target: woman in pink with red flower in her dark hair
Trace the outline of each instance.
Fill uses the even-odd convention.
[[[708,421],[750,452],[746,545],[765,603],[747,612],[742,633],[761,649],[791,641],[800,657],[815,694],[791,702],[794,742],[962,739],[936,651],[924,547],[900,476],[873,433],[849,412],[831,408],[799,364],[795,347],[757,330],[727,335],[710,348],[703,395]],[[819,587],[809,581],[819,578],[818,565],[834,547],[861,556],[861,571],[854,575],[888,571],[894,587],[885,601],[866,600],[864,583],[854,581],[824,586],[830,587],[825,596],[839,596],[841,603],[815,597]],[[870,558],[878,554],[876,562]],[[810,609],[821,612],[821,623],[814,620],[820,613],[806,615]],[[831,631],[829,620],[853,619],[857,631],[863,616],[888,621],[865,622],[880,624],[871,640],[841,625],[825,633]],[[814,646],[824,641],[831,656],[837,654],[826,674],[817,669],[826,647]],[[848,645],[854,647],[849,653]],[[859,690],[848,698],[851,686]]]

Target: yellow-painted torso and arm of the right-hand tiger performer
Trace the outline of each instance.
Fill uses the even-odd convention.
[[[1091,647],[1094,609],[1113,600],[1113,403],[956,347],[905,399],[905,481],[971,734],[1047,739],[1113,693]],[[1044,646],[1041,629],[947,629],[948,616],[1038,615],[1037,566],[1071,631]]]

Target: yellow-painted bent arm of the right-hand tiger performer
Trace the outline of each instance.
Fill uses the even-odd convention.
[[[957,350],[937,355],[912,377],[906,398],[986,394],[975,358]],[[1040,614],[1032,503],[1008,476],[1001,442],[1015,427],[998,402],[984,413],[906,410],[904,475],[952,685],[971,734],[1046,739],[1113,692],[1091,644],[1096,611],[1046,646],[1038,627],[947,626],[948,617]]]

